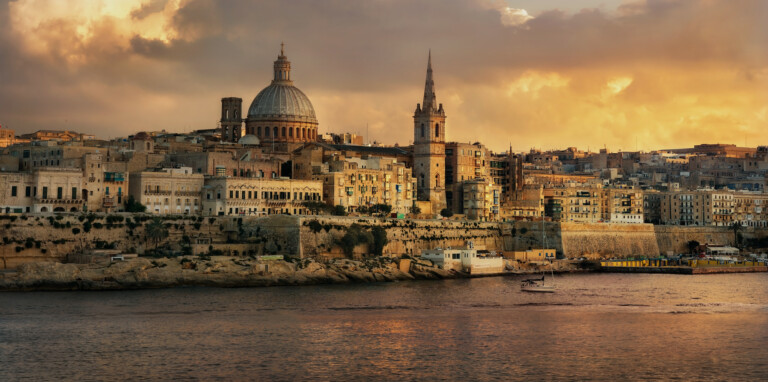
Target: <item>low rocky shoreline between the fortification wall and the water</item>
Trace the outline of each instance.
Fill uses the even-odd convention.
[[[574,269],[560,269],[574,271]],[[538,270],[515,269],[509,274]],[[37,262],[0,278],[0,291],[129,290],[184,286],[264,287],[467,278],[429,261],[375,257],[329,262],[243,257],[139,257],[106,265]]]

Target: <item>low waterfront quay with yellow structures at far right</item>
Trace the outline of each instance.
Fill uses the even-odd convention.
[[[758,261],[729,262],[722,260],[615,260],[601,261],[600,272],[611,273],[669,273],[669,274],[713,274],[768,272],[768,264]]]

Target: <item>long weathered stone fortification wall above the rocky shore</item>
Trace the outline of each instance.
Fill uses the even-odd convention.
[[[166,216],[161,221],[168,237],[154,242],[146,233],[153,217],[110,216],[111,222],[107,215],[92,214],[4,216],[0,219],[0,269],[27,262],[63,261],[67,254],[88,248],[143,254],[157,246],[187,254],[338,258],[344,257],[340,242],[352,224],[366,230],[383,228],[388,241],[384,255],[418,255],[425,249],[460,248],[472,241],[477,248],[491,251],[554,248],[569,258],[655,257],[687,252],[690,241],[733,245],[736,237],[727,227],[275,215]],[[768,230],[744,228],[740,234],[744,239],[762,238],[768,236]],[[371,252],[368,244],[361,244],[354,247],[353,256]]]

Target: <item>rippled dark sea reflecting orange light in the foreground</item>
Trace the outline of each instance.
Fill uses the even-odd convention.
[[[768,380],[768,274],[0,293],[0,381]]]

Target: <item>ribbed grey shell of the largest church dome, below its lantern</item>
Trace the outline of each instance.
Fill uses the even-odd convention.
[[[317,123],[315,109],[301,90],[274,81],[253,99],[248,108],[248,119],[290,119]]]

